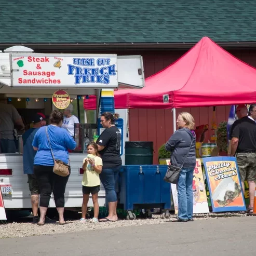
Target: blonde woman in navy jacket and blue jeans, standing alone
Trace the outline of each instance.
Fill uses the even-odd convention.
[[[177,183],[178,220],[193,221],[193,173],[196,166],[196,137],[192,132],[195,120],[190,113],[182,112],[177,118],[178,130],[166,143],[166,150],[171,152],[171,164],[181,167]],[[192,142],[192,145],[191,145]],[[191,145],[191,147],[190,147]]]

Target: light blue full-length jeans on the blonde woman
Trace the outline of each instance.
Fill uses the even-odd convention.
[[[193,217],[193,173],[194,168],[182,168],[177,184],[178,190],[178,218],[181,220]]]

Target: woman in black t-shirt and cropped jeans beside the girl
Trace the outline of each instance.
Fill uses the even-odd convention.
[[[118,181],[118,174],[122,166],[120,157],[121,133],[115,126],[115,120],[119,115],[104,112],[101,117],[101,125],[105,130],[97,140],[103,166],[100,173],[100,180],[105,188],[106,201],[109,204],[109,215],[99,220],[100,222],[116,221],[117,195],[115,186]]]

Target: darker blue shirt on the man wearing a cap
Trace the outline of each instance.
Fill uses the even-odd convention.
[[[39,128],[31,128],[22,135],[23,141],[23,172],[33,174],[34,158],[36,151],[33,149],[32,142]]]

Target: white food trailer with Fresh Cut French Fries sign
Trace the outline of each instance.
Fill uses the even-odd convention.
[[[33,53],[32,49],[23,46],[0,52],[0,93],[7,99],[33,99],[26,102],[28,108],[35,103],[35,99],[49,99],[41,101],[41,108],[48,109],[48,113],[53,109],[52,94],[59,89],[68,92],[70,98],[96,95],[99,102],[101,89],[143,86],[141,56]],[[72,172],[66,185],[66,208],[82,205],[82,174],[79,170],[84,157],[86,154],[70,153]],[[0,154],[0,186],[6,209],[31,208],[28,177],[23,174],[21,152]],[[99,204],[105,204],[103,186],[99,192]],[[89,206],[92,205],[90,200]],[[52,197],[49,207],[55,207]]]

